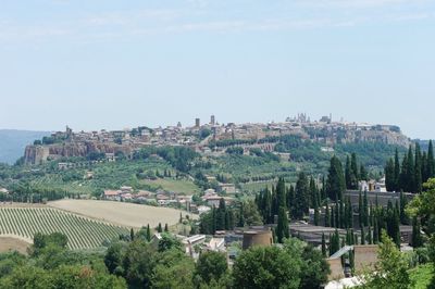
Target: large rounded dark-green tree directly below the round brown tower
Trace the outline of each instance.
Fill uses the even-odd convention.
[[[300,260],[277,247],[253,247],[234,263],[234,288],[299,288]]]

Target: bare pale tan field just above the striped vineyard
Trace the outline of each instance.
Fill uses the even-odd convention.
[[[175,209],[115,201],[60,200],[49,202],[48,205],[120,226],[135,228],[140,228],[148,224],[151,227],[157,227],[159,223],[174,225],[178,222],[181,213]],[[183,215],[185,214],[183,212]],[[195,218],[194,215],[190,216]]]

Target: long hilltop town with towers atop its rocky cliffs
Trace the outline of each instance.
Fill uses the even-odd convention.
[[[228,147],[241,147],[245,151],[252,148],[273,151],[283,136],[295,136],[302,140],[322,143],[322,150],[333,150],[336,143],[383,142],[407,147],[410,143],[400,128],[395,125],[371,125],[333,121],[323,116],[311,121],[307,114],[287,117],[285,122],[220,124],[214,115],[210,122],[201,124],[195,120],[194,126],[150,128],[139,126],[123,130],[65,131],[53,133],[50,137],[36,140],[27,146],[24,153],[25,164],[41,164],[60,158],[88,156],[103,153],[107,160],[119,155],[129,158],[146,146],[186,146],[202,154],[220,154]]]

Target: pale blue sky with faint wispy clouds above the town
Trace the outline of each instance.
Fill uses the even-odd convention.
[[[0,128],[302,112],[435,138],[435,1],[0,0]]]

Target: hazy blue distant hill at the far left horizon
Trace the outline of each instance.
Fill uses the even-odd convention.
[[[49,131],[0,129],[0,163],[15,163],[23,156],[27,144],[50,134]]]

